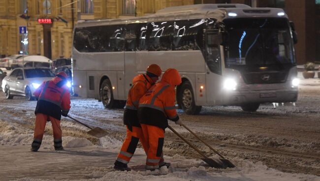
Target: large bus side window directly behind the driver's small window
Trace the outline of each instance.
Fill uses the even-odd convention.
[[[173,49],[174,50],[199,50],[197,34],[205,25],[204,19],[178,20],[174,22]]]

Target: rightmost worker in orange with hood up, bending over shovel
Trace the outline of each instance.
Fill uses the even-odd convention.
[[[146,169],[159,169],[170,166],[164,162],[162,147],[164,129],[168,126],[167,119],[181,125],[181,120],[175,108],[175,86],[181,84],[181,77],[176,69],[167,69],[159,83],[150,88],[139,101],[138,119],[143,137],[146,140]]]

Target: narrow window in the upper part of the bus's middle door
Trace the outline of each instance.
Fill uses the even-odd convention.
[[[125,51],[135,51],[137,43],[137,24],[126,25]]]

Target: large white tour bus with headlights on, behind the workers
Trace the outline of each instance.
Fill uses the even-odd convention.
[[[72,47],[74,92],[123,107],[132,78],[157,63],[182,77],[176,99],[201,106],[295,102],[296,32],[283,9],[244,4],[168,7],[130,19],[79,21]]]

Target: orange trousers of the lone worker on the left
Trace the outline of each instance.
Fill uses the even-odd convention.
[[[33,142],[32,147],[40,148],[44,129],[46,127],[47,121],[50,120],[52,124],[52,130],[53,130],[53,142],[55,148],[62,147],[62,130],[60,127],[60,120],[57,120],[51,116],[37,113],[35,115],[35,126],[34,126],[34,135],[33,135]]]

